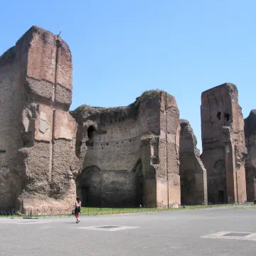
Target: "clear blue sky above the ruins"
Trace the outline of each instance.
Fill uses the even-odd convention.
[[[73,104],[129,105],[145,90],[176,97],[201,149],[201,92],[233,82],[256,108],[255,0],[1,1],[0,54],[33,25],[73,54]]]

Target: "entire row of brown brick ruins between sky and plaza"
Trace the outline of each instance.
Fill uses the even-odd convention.
[[[201,155],[167,92],[71,112],[72,88],[70,48],[49,31],[0,56],[0,210],[255,200],[256,110],[242,117],[234,84],[202,93]]]

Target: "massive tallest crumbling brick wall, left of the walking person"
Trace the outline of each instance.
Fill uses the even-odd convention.
[[[0,57],[0,208],[68,208],[76,195],[72,57],[31,27]]]

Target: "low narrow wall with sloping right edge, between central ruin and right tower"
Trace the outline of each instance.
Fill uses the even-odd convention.
[[[181,204],[207,204],[207,174],[197,149],[196,136],[188,120],[181,119],[179,143],[179,174],[181,176]]]

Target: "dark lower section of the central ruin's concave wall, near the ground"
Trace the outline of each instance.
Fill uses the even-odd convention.
[[[128,171],[102,171],[90,166],[80,176],[83,206],[139,206],[143,197],[142,164]],[[142,178],[141,178],[142,177]]]

